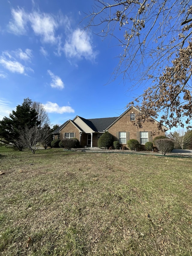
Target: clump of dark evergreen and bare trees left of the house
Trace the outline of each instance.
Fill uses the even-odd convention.
[[[24,99],[22,105],[0,121],[0,137],[4,144],[22,151],[29,148],[33,154],[40,145],[46,149],[53,140],[49,116],[40,102]]]

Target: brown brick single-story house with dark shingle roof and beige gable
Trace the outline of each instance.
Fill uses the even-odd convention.
[[[164,125],[162,126],[163,131],[158,131],[158,134],[153,135],[157,130],[158,121],[156,120],[154,123],[144,122],[142,128],[137,128],[134,122],[138,112],[139,110],[132,106],[119,117],[85,119],[76,116],[73,120],[66,121],[52,134],[54,140],[75,137],[82,147],[97,147],[98,139],[105,131],[110,132],[114,136],[114,140],[119,141],[121,146],[126,146],[130,139],[137,139],[144,146],[148,141],[153,142],[153,137],[165,135],[168,128]]]

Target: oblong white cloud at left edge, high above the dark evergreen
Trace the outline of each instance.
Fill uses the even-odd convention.
[[[7,60],[6,58],[1,57],[0,64],[4,68],[8,69],[9,71],[11,71],[13,73],[24,74],[24,72],[25,72],[25,67],[17,61]]]

